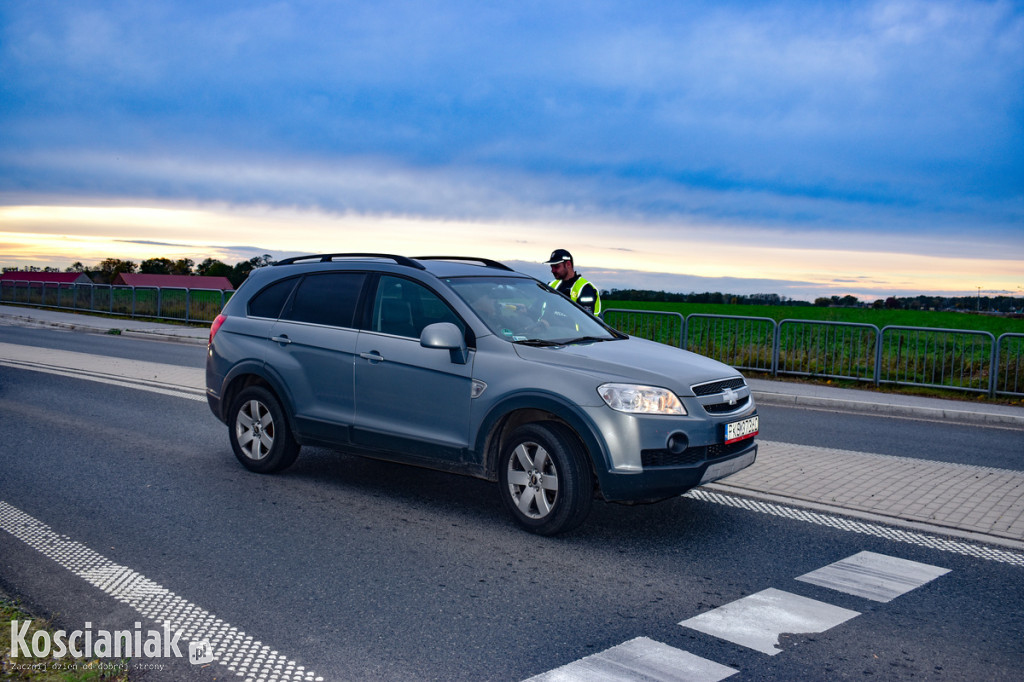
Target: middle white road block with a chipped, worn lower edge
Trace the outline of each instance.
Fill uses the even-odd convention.
[[[783,633],[815,634],[860,615],[774,588],[719,606],[679,625],[768,655],[781,653]]]

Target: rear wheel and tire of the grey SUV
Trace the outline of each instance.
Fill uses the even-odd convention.
[[[250,471],[275,473],[290,467],[299,456],[278,397],[262,386],[242,390],[227,413],[231,450]]]

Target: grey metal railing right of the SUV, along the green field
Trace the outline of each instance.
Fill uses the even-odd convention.
[[[1024,334],[620,308],[601,316],[627,334],[772,376],[1024,395]]]

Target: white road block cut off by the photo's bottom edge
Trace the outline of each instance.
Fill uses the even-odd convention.
[[[689,651],[637,637],[527,682],[718,682],[737,672]]]

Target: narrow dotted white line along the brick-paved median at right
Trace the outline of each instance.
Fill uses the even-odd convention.
[[[805,509],[797,509],[795,507],[784,507],[770,502],[760,502],[758,500],[750,500],[748,498],[738,498],[731,495],[712,493],[700,488],[694,488],[689,493],[686,493],[683,497],[699,500],[701,502],[724,505],[726,507],[734,507],[736,509],[745,509],[748,511],[755,511],[762,514],[770,514],[771,516],[780,516],[782,518],[790,518],[797,521],[805,521],[807,523],[823,525],[830,528],[837,528],[839,530],[859,532],[861,535],[873,536],[876,538],[906,543],[908,545],[928,547],[942,552],[951,552],[953,554],[963,554],[965,556],[987,559],[989,561],[1009,563],[1015,566],[1024,566],[1024,554],[997,549],[994,547],[973,545],[971,543],[939,538],[937,536],[929,536],[923,532],[915,532],[913,530],[890,528],[876,523],[865,523],[864,521],[843,518],[842,516],[831,516]]]

